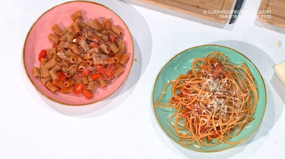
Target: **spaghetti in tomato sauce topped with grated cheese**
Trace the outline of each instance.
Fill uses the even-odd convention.
[[[257,86],[251,71],[234,65],[221,52],[210,52],[195,58],[191,70],[169,81],[154,107],[175,109],[169,117],[172,133],[183,145],[212,147],[219,143],[237,144],[229,139],[237,136],[254,118]],[[159,103],[172,84],[169,103]],[[174,118],[174,123],[171,119]]]

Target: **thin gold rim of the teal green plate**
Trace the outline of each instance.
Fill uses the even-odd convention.
[[[192,48],[188,48],[188,49],[183,50],[183,51],[179,52],[178,54],[174,55],[170,60],[168,60],[168,62],[166,62],[166,63],[163,65],[163,67],[160,69],[159,73],[158,73],[157,76],[156,76],[156,79],[155,79],[155,81],[154,81],[154,85],[153,85],[153,88],[152,88],[152,110],[154,111],[154,115],[155,115],[156,121],[158,122],[158,124],[159,124],[160,128],[163,130],[163,132],[166,133],[167,137],[169,137],[169,138],[172,139],[175,143],[177,143],[178,145],[180,145],[180,146],[182,146],[182,147],[184,147],[184,148],[186,148],[186,149],[193,150],[193,151],[196,151],[196,152],[204,152],[204,153],[221,152],[221,151],[228,150],[228,149],[231,149],[231,148],[233,148],[233,147],[236,147],[236,146],[239,145],[240,143],[233,144],[231,147],[228,147],[228,148],[225,148],[225,149],[221,149],[221,150],[211,150],[211,151],[202,151],[202,150],[196,150],[196,149],[192,149],[192,148],[190,148],[190,147],[187,147],[187,146],[185,146],[185,145],[179,143],[178,141],[176,141],[173,137],[171,137],[171,136],[163,129],[162,125],[160,124],[160,122],[159,122],[159,120],[158,120],[158,118],[157,118],[156,111],[155,111],[155,108],[153,107],[153,105],[154,105],[154,88],[155,88],[155,86],[156,86],[158,77],[159,77],[160,74],[161,74],[161,71],[166,67],[166,65],[167,65],[168,63],[170,63],[174,58],[176,58],[176,57],[178,57],[180,54],[182,54],[183,52],[193,50],[194,48],[207,47],[207,46],[216,46],[216,47],[227,48],[227,49],[230,49],[230,50],[232,50],[232,51],[234,51],[234,52],[240,54],[241,56],[243,56],[245,59],[247,59],[247,60],[255,67],[255,69],[257,70],[257,72],[258,72],[258,74],[259,74],[259,76],[260,76],[260,78],[261,78],[261,81],[262,81],[262,84],[263,84],[263,88],[264,88],[264,93],[265,93],[265,97],[264,97],[264,99],[265,99],[265,101],[264,101],[264,110],[263,110],[263,114],[262,114],[262,116],[261,116],[261,118],[260,118],[260,121],[258,122],[257,126],[256,126],[256,127],[254,128],[254,130],[248,135],[247,138],[249,138],[249,137],[255,132],[255,130],[258,128],[258,126],[260,125],[260,123],[261,123],[261,121],[262,121],[262,119],[263,119],[265,110],[266,110],[266,103],[267,103],[266,87],[265,87],[264,79],[263,79],[263,77],[262,77],[260,71],[257,69],[257,67],[255,66],[255,64],[254,64],[251,60],[249,60],[249,58],[247,58],[244,54],[240,53],[239,51],[237,51],[237,50],[235,50],[235,49],[233,49],[233,48],[229,48],[229,47],[227,47],[227,46],[221,46],[221,45],[215,45],[215,44],[205,44],[205,45],[199,45],[199,46],[194,46],[194,47],[192,47]],[[258,87],[258,88],[259,88],[259,87]],[[244,142],[244,141],[243,141],[243,142]],[[241,143],[243,143],[243,142],[241,142]]]

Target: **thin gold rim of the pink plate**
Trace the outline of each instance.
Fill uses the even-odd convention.
[[[25,48],[26,48],[27,39],[28,39],[28,37],[29,37],[29,35],[30,35],[31,30],[33,29],[34,25],[36,24],[36,22],[38,22],[38,20],[39,20],[40,18],[42,18],[42,16],[44,16],[44,15],[45,15],[47,12],[49,12],[50,10],[52,10],[52,9],[54,9],[54,8],[60,6],[60,5],[65,5],[65,4],[74,3],[74,2],[92,3],[92,4],[95,4],[95,5],[99,5],[99,6],[101,6],[101,7],[104,7],[104,8],[106,8],[106,9],[110,10],[111,12],[113,12],[113,14],[115,14],[117,17],[119,17],[119,18],[122,20],[122,22],[125,24],[125,26],[127,27],[127,30],[129,31],[129,34],[130,34],[130,36],[131,36],[131,41],[132,41],[132,44],[133,44],[133,58],[130,59],[130,60],[131,60],[131,66],[130,66],[129,72],[127,73],[127,76],[125,77],[125,79],[123,80],[123,82],[122,82],[113,92],[111,92],[109,95],[107,95],[107,96],[105,96],[105,97],[103,97],[102,99],[99,99],[99,100],[97,100],[97,101],[92,101],[91,103],[86,103],[86,104],[68,104],[68,103],[64,103],[64,102],[59,102],[59,101],[56,101],[56,100],[52,99],[51,97],[48,97],[48,96],[45,95],[44,93],[42,93],[42,92],[36,87],[36,85],[34,84],[34,82],[33,82],[32,79],[31,79],[31,77],[28,75],[28,73],[27,73],[27,68],[26,68],[26,63],[25,63]],[[30,27],[30,29],[29,29],[29,31],[28,31],[28,33],[27,33],[27,36],[26,36],[25,42],[24,42],[24,46],[23,46],[22,55],[23,55],[23,56],[22,56],[22,61],[23,61],[23,66],[24,66],[24,69],[25,69],[25,73],[26,73],[28,79],[30,80],[31,84],[34,86],[34,88],[35,88],[42,96],[44,96],[44,97],[46,97],[47,99],[49,99],[49,100],[51,100],[51,101],[54,101],[54,102],[56,102],[56,103],[58,103],[58,104],[62,104],[62,105],[67,105],[67,106],[85,106],[85,105],[91,105],[91,104],[94,104],[94,103],[97,103],[97,102],[99,102],[99,101],[102,101],[102,100],[106,99],[107,97],[111,96],[114,92],[116,92],[116,91],[123,85],[123,83],[125,83],[125,80],[128,78],[129,73],[130,73],[130,71],[131,71],[131,69],[132,69],[132,66],[133,66],[134,55],[135,55],[135,48],[134,48],[133,36],[132,36],[132,34],[131,34],[131,32],[130,32],[129,27],[127,26],[127,24],[125,23],[125,21],[124,21],[117,13],[115,13],[113,10],[109,9],[108,7],[106,7],[105,5],[102,5],[102,4],[100,4],[100,3],[96,3],[96,2],[93,2],[93,1],[79,0],[79,1],[68,1],[68,2],[64,2],[64,3],[58,4],[58,5],[56,5],[56,6],[52,7],[52,8],[50,8],[50,9],[48,9],[48,10],[45,11],[39,18],[37,18],[37,20],[32,24],[32,26]]]

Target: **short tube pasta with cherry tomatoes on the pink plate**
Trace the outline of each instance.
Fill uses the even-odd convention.
[[[83,94],[93,97],[95,87],[107,87],[108,81],[124,73],[129,60],[123,32],[111,19],[97,18],[85,23],[80,11],[70,16],[73,23],[61,29],[54,24],[48,39],[52,48],[41,50],[40,67],[33,67],[35,78],[51,92]],[[118,38],[117,38],[118,37]]]

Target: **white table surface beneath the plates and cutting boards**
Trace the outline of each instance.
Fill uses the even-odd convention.
[[[41,96],[22,63],[32,24],[44,11],[64,2],[0,2],[0,159],[285,158],[285,87],[273,69],[285,61],[285,44],[280,48],[275,44],[285,43],[284,34],[259,29],[255,17],[240,17],[234,25],[218,28],[179,18],[176,12],[173,16],[119,0],[98,0],[129,26],[137,62],[115,94],[97,104],[70,107]],[[246,1],[243,10],[257,10],[259,2]],[[14,10],[21,13],[15,15]],[[229,46],[245,54],[260,70],[267,90],[264,118],[248,141],[210,154],[171,141],[159,127],[151,104],[160,68],[174,54],[203,44]]]

